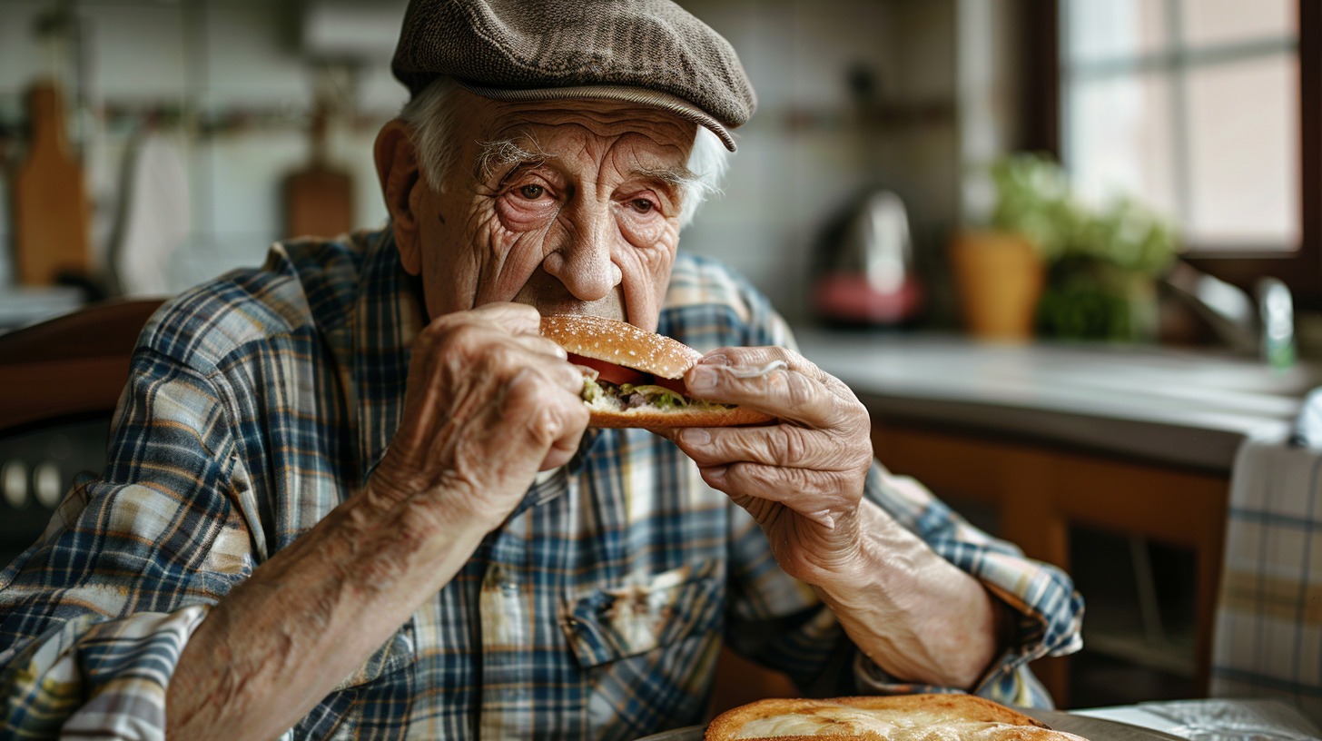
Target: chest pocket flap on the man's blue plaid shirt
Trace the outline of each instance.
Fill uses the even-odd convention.
[[[561,625],[583,668],[722,629],[724,569],[717,561],[627,580],[568,599]]]

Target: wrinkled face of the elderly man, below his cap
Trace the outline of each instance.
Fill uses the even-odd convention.
[[[431,316],[513,300],[656,329],[694,124],[608,101],[460,99],[459,156],[438,191],[412,185],[399,245]]]

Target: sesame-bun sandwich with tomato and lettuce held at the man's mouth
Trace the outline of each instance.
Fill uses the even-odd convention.
[[[672,337],[580,315],[543,316],[541,332],[583,372],[583,402],[594,427],[727,427],[773,418],[689,396],[683,374],[702,353]]]

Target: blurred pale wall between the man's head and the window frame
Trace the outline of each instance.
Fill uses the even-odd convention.
[[[804,278],[824,222],[866,187],[898,189],[917,249],[937,249],[956,208],[954,3],[686,7],[734,44],[759,95],[726,197],[699,214],[687,249],[735,265],[792,319],[810,314]],[[854,67],[875,81],[870,115],[851,99]]]

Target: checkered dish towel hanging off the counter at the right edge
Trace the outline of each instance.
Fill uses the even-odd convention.
[[[1277,697],[1322,725],[1322,390],[1289,441],[1245,441],[1231,476],[1214,697]]]

